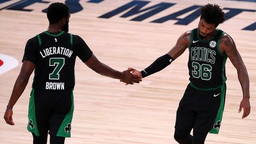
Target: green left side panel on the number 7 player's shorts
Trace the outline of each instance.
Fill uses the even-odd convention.
[[[34,104],[34,89],[30,92],[30,101],[28,106],[28,125],[27,130],[34,133],[36,136],[40,136],[36,123],[36,107]]]

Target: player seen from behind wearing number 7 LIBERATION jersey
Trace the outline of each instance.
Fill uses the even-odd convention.
[[[130,73],[133,69],[119,72],[101,63],[81,37],[68,33],[69,17],[65,4],[57,2],[49,6],[48,30],[27,41],[23,66],[5,111],[5,121],[14,125],[12,107],[34,71],[27,126],[34,144],[47,143],[48,132],[52,144],[64,143],[65,137],[71,137],[76,56],[101,75],[128,84],[141,81]]]

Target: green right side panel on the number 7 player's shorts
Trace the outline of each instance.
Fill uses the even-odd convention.
[[[62,121],[62,124],[59,127],[59,130],[57,132],[56,136],[61,136],[61,137],[71,137],[71,121],[73,117],[73,91],[71,92],[71,110],[69,111],[68,114],[66,114],[64,120]]]

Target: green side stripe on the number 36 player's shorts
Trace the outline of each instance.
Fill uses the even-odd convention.
[[[222,91],[222,94],[221,94],[221,97],[220,97],[221,98],[220,99],[220,107],[219,107],[219,110],[217,112],[215,123],[213,124],[213,127],[212,127],[212,129],[210,130],[209,133],[215,133],[215,134],[219,133],[220,124],[221,124],[222,116],[223,116],[224,105],[225,105],[226,84],[224,84],[221,87],[221,91]]]

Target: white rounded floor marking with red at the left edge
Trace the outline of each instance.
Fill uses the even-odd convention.
[[[18,60],[14,57],[0,54],[0,75],[18,66]]]

